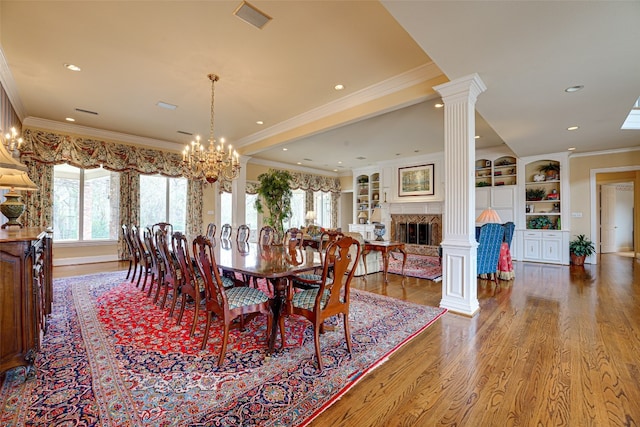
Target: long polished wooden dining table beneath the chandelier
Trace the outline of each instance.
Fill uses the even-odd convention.
[[[214,252],[218,267],[243,276],[264,278],[273,284],[273,327],[268,343],[269,353],[273,353],[287,293],[287,277],[320,267],[320,254],[300,248],[290,249],[285,245],[259,245],[236,241],[217,243]]]

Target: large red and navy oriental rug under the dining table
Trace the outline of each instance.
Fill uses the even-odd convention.
[[[446,310],[352,290],[353,353],[342,320],[320,338],[315,362],[310,323],[287,317],[286,346],[266,357],[266,317],[233,330],[218,368],[221,322],[205,319],[189,337],[124,272],[54,281],[54,306],[34,379],[6,374],[2,426],[303,426]],[[177,310],[176,310],[177,314]],[[279,334],[278,334],[279,335]]]

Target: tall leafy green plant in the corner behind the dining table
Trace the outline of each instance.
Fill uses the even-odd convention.
[[[291,217],[291,181],[293,176],[285,170],[269,169],[268,172],[258,175],[260,186],[256,199],[256,210],[260,213],[269,212],[264,218],[267,225],[273,227],[277,238],[281,241],[284,237],[284,221]]]

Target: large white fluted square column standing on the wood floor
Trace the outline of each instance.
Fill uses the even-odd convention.
[[[475,240],[475,104],[487,88],[473,74],[434,87],[444,102],[444,212],[440,306],[475,315],[480,309]]]

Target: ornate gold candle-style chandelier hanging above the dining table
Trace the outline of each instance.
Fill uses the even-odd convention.
[[[209,74],[211,80],[211,124],[209,127],[209,147],[200,143],[200,136],[187,144],[182,152],[182,163],[185,165],[187,176],[196,181],[213,184],[218,179],[231,181],[240,174],[238,153],[233,151],[231,144],[225,149],[224,138],[216,145],[214,137],[213,102],[215,83],[220,79],[216,74]]]

